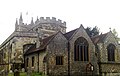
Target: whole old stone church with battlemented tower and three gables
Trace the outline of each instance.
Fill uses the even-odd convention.
[[[66,22],[40,17],[0,45],[0,71],[25,68],[49,76],[120,75],[120,45],[111,31],[89,37],[83,25],[66,32]]]

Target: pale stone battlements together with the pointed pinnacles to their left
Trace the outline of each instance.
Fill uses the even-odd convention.
[[[32,18],[30,24],[25,24],[23,23],[23,19],[21,16],[19,19],[19,24],[18,24],[18,21],[16,20],[15,31],[27,31],[39,24],[55,24],[56,27],[60,26],[62,29],[66,28],[66,22],[60,19],[56,19],[55,17],[51,17],[51,18],[50,17],[40,17],[40,18],[37,17],[35,22],[33,21],[33,18]]]

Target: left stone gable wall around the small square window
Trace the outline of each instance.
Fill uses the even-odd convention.
[[[48,74],[49,75],[67,75],[68,71],[68,52],[67,40],[62,33],[58,33],[49,43],[48,54]],[[56,56],[63,56],[63,65],[56,65]]]

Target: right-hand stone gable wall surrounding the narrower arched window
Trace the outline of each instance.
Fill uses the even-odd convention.
[[[100,50],[100,62],[108,62],[107,46],[111,43],[114,44],[116,47],[115,62],[120,62],[119,45],[111,32],[108,33],[103,43],[98,44]]]

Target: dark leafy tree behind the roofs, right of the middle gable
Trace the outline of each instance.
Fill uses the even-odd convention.
[[[100,31],[99,31],[99,29],[98,29],[97,26],[95,26],[95,27],[93,27],[93,28],[87,27],[85,30],[86,30],[87,34],[88,34],[90,37],[93,37],[93,36],[95,36],[95,35],[99,35],[99,33],[100,33]]]

